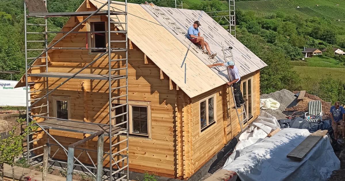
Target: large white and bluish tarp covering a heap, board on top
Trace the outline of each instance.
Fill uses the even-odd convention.
[[[309,134],[306,129],[286,128],[245,149],[236,150],[223,169],[235,171],[242,181],[319,181],[340,169],[327,135],[302,161],[286,158]]]

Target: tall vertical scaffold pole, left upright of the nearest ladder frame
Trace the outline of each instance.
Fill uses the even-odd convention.
[[[112,3],[111,0],[108,0],[107,4],[108,4],[108,32],[110,31],[110,3]],[[117,3],[114,3],[117,4]],[[119,3],[120,4],[120,3]],[[126,11],[127,12],[127,11]],[[127,50],[127,49],[126,49]],[[110,38],[110,33],[108,33],[108,75],[109,75],[109,79],[108,79],[108,83],[109,83],[109,165],[111,165],[112,159],[111,159],[111,127],[112,127],[112,122],[111,122],[111,38]],[[109,167],[110,170],[110,178],[109,180],[112,181],[112,167]]]

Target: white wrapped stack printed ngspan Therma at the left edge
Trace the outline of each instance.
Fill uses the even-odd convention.
[[[15,88],[18,81],[0,80],[0,106],[26,106],[25,87]]]

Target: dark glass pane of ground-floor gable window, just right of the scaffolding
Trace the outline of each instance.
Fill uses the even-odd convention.
[[[147,107],[132,107],[132,133],[148,134],[147,129]]]

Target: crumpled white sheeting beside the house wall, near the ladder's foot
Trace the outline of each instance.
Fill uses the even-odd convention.
[[[239,136],[235,150],[244,149],[266,138],[270,132],[277,128],[280,129],[277,119],[267,112],[262,111],[250,127]]]

